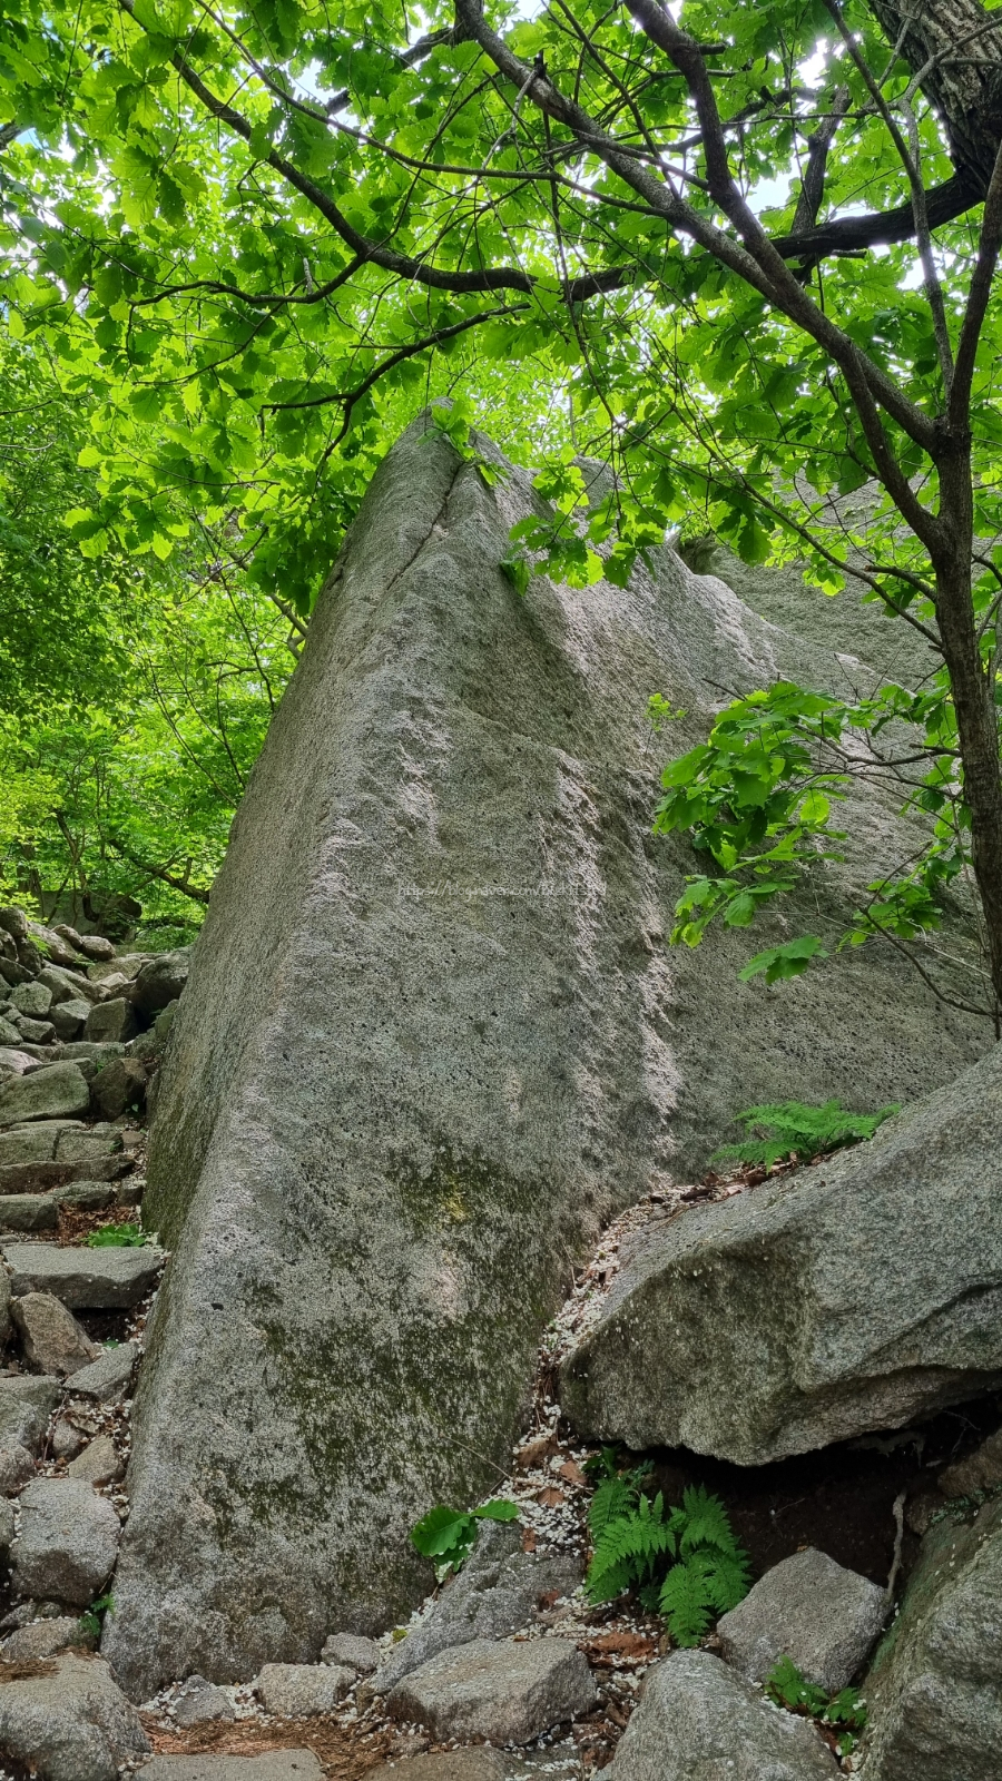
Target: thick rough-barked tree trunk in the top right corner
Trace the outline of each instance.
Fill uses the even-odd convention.
[[[984,196],[1002,141],[1002,16],[979,0],[866,0],[866,5],[891,48],[908,21],[900,55],[913,75],[940,57],[924,75],[922,91],[943,121],[957,173],[975,178]]]

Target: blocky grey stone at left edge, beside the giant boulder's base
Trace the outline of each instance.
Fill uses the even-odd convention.
[[[11,1548],[14,1589],[86,1608],[112,1573],[118,1539],[112,1505],[89,1484],[36,1478],[21,1494],[21,1532]]]

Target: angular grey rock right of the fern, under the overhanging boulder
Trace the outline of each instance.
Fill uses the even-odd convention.
[[[717,1622],[720,1655],[749,1681],[765,1681],[781,1656],[838,1694],[852,1681],[884,1624],[884,1592],[858,1571],[808,1548],[767,1571]]]

